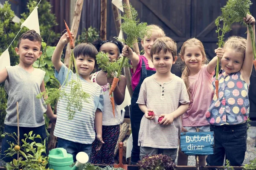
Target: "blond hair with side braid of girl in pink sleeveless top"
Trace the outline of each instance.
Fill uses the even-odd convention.
[[[182,47],[180,49],[180,53],[179,53],[179,56],[181,58],[184,59],[184,54],[185,54],[186,47],[189,47],[189,46],[197,46],[200,49],[200,51],[201,51],[201,53],[203,55],[202,65],[204,65],[206,62],[208,62],[206,54],[205,54],[205,51],[204,51],[204,45],[203,45],[203,43],[200,40],[198,40],[196,38],[191,38],[189,40],[186,40],[183,43],[183,45],[182,45]],[[186,66],[186,64],[184,65],[181,78],[183,79],[183,81],[184,81],[184,83],[186,85],[187,92],[189,94],[189,99],[191,99],[191,94],[189,92],[189,68]]]

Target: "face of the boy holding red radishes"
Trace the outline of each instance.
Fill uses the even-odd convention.
[[[163,50],[161,50],[158,54],[153,54],[154,68],[160,74],[170,72],[173,64],[175,64],[175,61],[170,51],[163,53]]]

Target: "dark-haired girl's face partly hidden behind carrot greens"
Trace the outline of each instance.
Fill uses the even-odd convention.
[[[106,42],[102,44],[99,48],[99,51],[102,51],[104,53],[108,53],[108,58],[112,62],[113,59],[118,59],[119,57],[119,49],[116,44],[113,42]]]

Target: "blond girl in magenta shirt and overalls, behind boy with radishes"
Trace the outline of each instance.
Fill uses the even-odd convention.
[[[140,92],[140,86],[146,77],[149,77],[156,73],[153,62],[151,61],[150,49],[151,45],[157,38],[165,36],[164,31],[159,26],[149,25],[148,27],[150,28],[149,31],[151,31],[151,37],[144,37],[144,39],[141,40],[141,45],[143,46],[145,52],[143,55],[137,55],[127,45],[125,45],[122,50],[122,55],[128,57],[131,60],[131,64],[133,66],[133,68],[131,69],[131,85],[134,92],[131,98],[130,113],[131,133],[133,138],[131,164],[136,164],[137,161],[140,160],[140,147],[138,146],[138,136],[140,130],[140,121],[144,115],[144,113],[140,110],[138,104],[136,103]],[[176,69],[172,69],[172,71],[174,71],[172,73],[177,75],[175,73]],[[178,73],[177,76],[180,76],[180,73]]]

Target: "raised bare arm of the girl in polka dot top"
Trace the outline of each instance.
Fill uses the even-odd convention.
[[[246,18],[244,18],[244,22],[247,24],[251,24],[253,26],[253,33],[254,33],[254,40],[255,40],[255,18],[252,15],[247,14]],[[253,46],[252,46],[252,41],[251,41],[248,27],[247,27],[247,42],[246,42],[246,49],[245,49],[245,57],[244,57],[244,63],[241,69],[243,73],[242,76],[245,82],[249,83],[250,75],[253,69]]]

